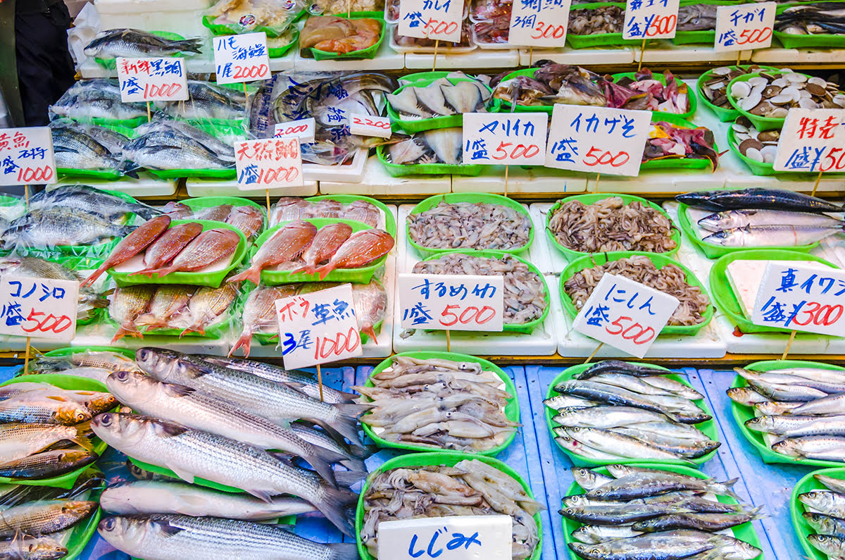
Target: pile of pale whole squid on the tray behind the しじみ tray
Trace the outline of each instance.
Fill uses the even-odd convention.
[[[373,405],[361,421],[389,442],[484,452],[520,425],[504,415],[515,395],[475,362],[394,356],[369,381],[374,387],[352,387]]]

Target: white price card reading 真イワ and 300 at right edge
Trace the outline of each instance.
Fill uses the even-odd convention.
[[[845,272],[814,263],[770,262],[751,322],[845,337]]]

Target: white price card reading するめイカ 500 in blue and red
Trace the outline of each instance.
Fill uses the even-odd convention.
[[[400,274],[402,328],[501,332],[504,277]]]

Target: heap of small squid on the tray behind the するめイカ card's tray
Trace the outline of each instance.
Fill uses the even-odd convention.
[[[427,249],[517,249],[532,228],[531,217],[510,206],[445,200],[407,222],[408,237]]]

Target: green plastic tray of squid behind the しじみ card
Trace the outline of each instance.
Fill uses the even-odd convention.
[[[495,459],[492,457],[486,457],[484,455],[478,454],[471,454],[471,453],[456,453],[456,452],[443,452],[443,453],[410,453],[407,455],[400,455],[399,457],[391,458],[389,461],[381,465],[378,469],[374,470],[370,475],[367,477],[367,480],[364,481],[363,488],[361,489],[361,495],[358,497],[358,506],[355,511],[355,538],[358,544],[358,554],[361,555],[362,560],[376,560],[368,551],[367,546],[361,541],[361,530],[363,529],[363,522],[364,522],[364,495],[367,493],[367,490],[370,486],[370,482],[375,478],[376,475],[383,473],[385,470],[391,469],[412,469],[414,467],[427,467],[431,465],[435,466],[445,466],[445,467],[453,467],[455,464],[461,463],[464,459],[477,459],[490,465],[495,469],[501,470],[505,475],[509,475],[514,480],[517,480],[522,486],[522,489],[526,491],[528,496],[534,498],[534,493],[531,490],[531,487],[528,486],[525,480],[522,480],[522,477],[516,473],[514,469],[511,469],[508,465],[499,461],[499,459]],[[539,560],[540,554],[542,553],[542,521],[540,520],[540,514],[536,513],[534,515],[534,520],[537,522],[537,547],[534,549],[534,553],[528,560]],[[381,560],[388,560],[388,558],[382,558]]]

